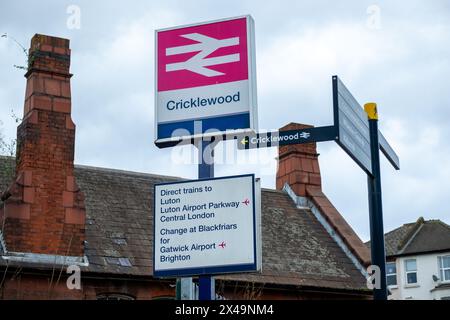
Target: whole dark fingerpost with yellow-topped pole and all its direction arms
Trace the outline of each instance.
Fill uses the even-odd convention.
[[[334,140],[342,147],[367,174],[372,264],[379,267],[380,279],[384,279],[379,288],[374,288],[374,299],[386,300],[379,150],[396,170],[400,169],[400,161],[378,130],[376,105],[369,103],[363,110],[337,76],[332,77],[332,84],[333,126],[241,135],[237,138],[237,145],[238,149],[252,149]]]

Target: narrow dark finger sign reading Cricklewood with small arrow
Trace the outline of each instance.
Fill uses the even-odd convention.
[[[336,130],[334,126],[305,128],[299,130],[272,131],[237,137],[238,149],[254,149],[277,147],[289,144],[302,144],[334,140]]]

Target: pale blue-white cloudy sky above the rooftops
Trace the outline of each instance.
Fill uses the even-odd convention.
[[[114,4],[113,4],[114,3]],[[132,3],[132,4],[131,4]],[[79,20],[74,14],[79,12]],[[382,159],[385,230],[419,216],[450,224],[450,2],[2,1],[0,127],[15,137],[25,56],[35,33],[69,38],[78,164],[196,178],[191,147],[154,140],[154,30],[251,14],[256,26],[259,127],[332,124],[331,76],[376,101],[401,171]],[[79,22],[79,23],[78,23]],[[334,142],[320,143],[324,192],[363,240],[367,181]],[[218,148],[216,175],[256,173],[274,188],[276,149]]]

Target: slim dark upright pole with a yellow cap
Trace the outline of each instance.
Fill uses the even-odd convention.
[[[380,273],[380,283],[375,282],[374,284],[373,298],[374,300],[387,300],[386,255],[384,247],[380,152],[378,142],[378,113],[375,103],[365,104],[364,109],[369,117],[370,153],[372,157],[372,175],[367,175],[369,189],[370,249],[372,265],[377,266]]]

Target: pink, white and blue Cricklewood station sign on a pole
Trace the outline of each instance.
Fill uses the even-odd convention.
[[[256,130],[251,16],[157,30],[156,143]]]

